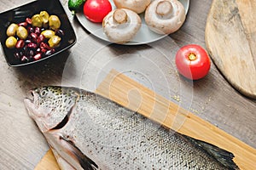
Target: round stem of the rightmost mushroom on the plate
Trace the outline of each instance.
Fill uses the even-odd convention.
[[[166,17],[172,14],[173,7],[170,1],[161,1],[157,4],[155,12],[162,17]]]

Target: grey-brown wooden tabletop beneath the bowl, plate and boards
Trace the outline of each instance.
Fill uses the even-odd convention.
[[[29,2],[1,0],[0,12]],[[111,69],[123,72],[256,148],[255,100],[236,92],[215,65],[207,77],[197,82],[179,77],[175,69],[177,48],[189,43],[205,47],[204,31],[212,1],[190,0],[187,20],[179,31],[157,42],[129,47],[91,36],[68,11],[67,0],[61,3],[76,31],[77,43],[73,48],[22,68],[9,67],[0,51],[0,169],[33,169],[49,150],[23,104],[29,89],[66,85],[95,90]]]

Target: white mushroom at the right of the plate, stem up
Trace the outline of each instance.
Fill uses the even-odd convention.
[[[186,18],[183,4],[177,0],[155,0],[145,12],[149,29],[158,34],[171,34],[177,31]]]

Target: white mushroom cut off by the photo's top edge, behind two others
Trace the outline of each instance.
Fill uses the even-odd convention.
[[[129,8],[137,14],[143,13],[150,2],[151,0],[113,0],[116,8]]]

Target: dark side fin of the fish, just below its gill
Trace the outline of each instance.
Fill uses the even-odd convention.
[[[85,156],[83,152],[79,150],[79,148],[75,144],[73,144],[71,140],[65,139],[63,137],[61,137],[60,139],[69,146],[69,151],[71,152],[73,157],[75,157],[79,161],[81,167],[86,170],[96,170],[98,168],[96,163],[92,161],[89,157]]]

